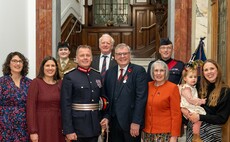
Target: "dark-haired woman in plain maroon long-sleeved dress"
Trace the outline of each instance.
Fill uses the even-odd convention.
[[[27,123],[32,142],[64,142],[60,112],[60,76],[57,61],[46,57],[29,87]]]

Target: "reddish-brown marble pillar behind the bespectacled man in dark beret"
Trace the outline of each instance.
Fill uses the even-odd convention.
[[[175,0],[174,58],[188,62],[191,57],[192,0]]]

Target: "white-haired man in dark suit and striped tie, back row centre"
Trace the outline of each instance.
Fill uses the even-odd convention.
[[[104,75],[105,75],[103,74],[104,59],[106,62],[104,63],[106,65],[105,71],[117,65],[117,62],[114,59],[114,56],[112,55],[113,45],[114,45],[114,39],[109,34],[103,34],[99,38],[99,48],[100,48],[101,54],[93,57],[91,67],[98,70],[101,73],[102,78],[104,78]]]

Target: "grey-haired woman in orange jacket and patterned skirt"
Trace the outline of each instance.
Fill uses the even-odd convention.
[[[177,142],[182,123],[178,87],[168,81],[169,70],[163,61],[155,61],[150,73],[153,81],[148,83],[143,141]]]

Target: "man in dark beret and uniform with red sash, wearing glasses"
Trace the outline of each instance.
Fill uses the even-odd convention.
[[[160,60],[164,61],[169,68],[169,81],[179,84],[181,81],[181,75],[182,71],[184,69],[184,63],[179,60],[172,59],[172,53],[173,53],[173,45],[172,42],[169,40],[169,38],[162,38],[160,40],[160,48],[159,48],[159,53],[161,55]],[[150,76],[150,69],[151,65],[153,64],[154,61],[151,61],[148,65],[148,70],[147,70],[147,79],[148,81],[152,81],[151,76]]]

